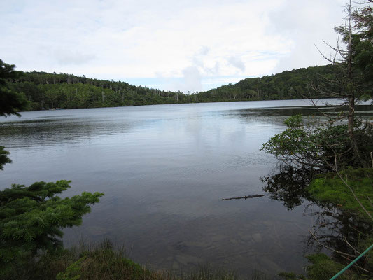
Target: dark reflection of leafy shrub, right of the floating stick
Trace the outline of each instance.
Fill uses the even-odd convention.
[[[311,181],[312,172],[308,169],[296,169],[289,165],[279,165],[274,174],[260,177],[265,184],[263,190],[272,200],[281,200],[288,209],[302,204],[307,198],[304,188]]]

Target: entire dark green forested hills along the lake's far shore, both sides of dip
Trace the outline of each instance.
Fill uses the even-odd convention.
[[[262,78],[246,78],[206,92],[169,92],[136,87],[125,82],[97,80],[64,73],[22,72],[8,80],[10,87],[29,100],[30,110],[92,108],[148,104],[226,102],[240,100],[302,99],[307,85],[321,77],[332,78],[333,66],[284,71]]]

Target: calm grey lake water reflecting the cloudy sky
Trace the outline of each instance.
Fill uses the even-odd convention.
[[[259,150],[285,129],[287,116],[317,114],[310,105],[172,104],[0,118],[0,144],[13,160],[1,187],[68,179],[64,195],[104,192],[83,225],[65,230],[67,246],[108,237],[155,268],[302,272],[315,223],[310,202],[288,209],[262,190],[260,177],[277,161]],[[371,106],[360,109],[372,114]],[[265,196],[222,201],[256,194]]]

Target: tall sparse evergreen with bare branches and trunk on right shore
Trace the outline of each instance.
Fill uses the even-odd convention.
[[[354,4],[358,6],[353,6]],[[355,106],[361,99],[372,96],[370,94],[373,93],[370,87],[373,76],[373,25],[370,20],[373,18],[373,10],[367,3],[355,3],[350,0],[346,4],[345,13],[345,24],[335,28],[342,42],[336,47],[330,47],[334,52],[332,58],[324,56],[335,66],[337,71],[335,78],[324,79],[323,83],[314,86],[314,90],[325,92],[328,97],[344,99],[342,106],[345,105],[348,112],[342,114],[339,119],[347,119],[347,132],[353,158],[361,162],[363,155],[359,151],[355,133],[358,126]],[[335,87],[330,89],[330,84]],[[330,118],[337,120],[337,118]]]

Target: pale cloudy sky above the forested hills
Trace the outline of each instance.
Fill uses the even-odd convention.
[[[326,64],[342,0],[0,1],[0,59],[162,90]]]

